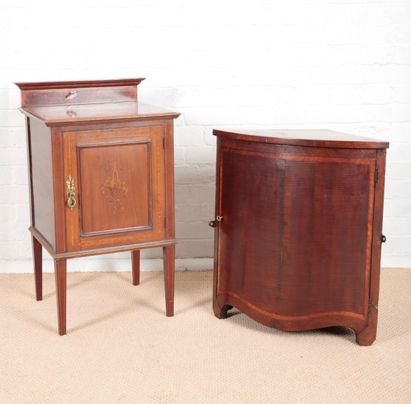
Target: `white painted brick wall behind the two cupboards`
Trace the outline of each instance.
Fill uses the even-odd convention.
[[[212,257],[213,127],[321,127],[390,141],[382,260],[411,267],[410,21],[410,0],[1,1],[0,272],[31,270],[12,81],[140,76],[142,101],[182,112],[177,257]],[[128,256],[71,268],[115,269]]]

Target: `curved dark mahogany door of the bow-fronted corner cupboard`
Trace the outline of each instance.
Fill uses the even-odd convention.
[[[364,322],[375,160],[222,153],[217,294],[283,329]]]

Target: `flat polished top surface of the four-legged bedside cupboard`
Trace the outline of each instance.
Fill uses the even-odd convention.
[[[72,105],[40,105],[20,108],[48,126],[96,123],[101,121],[130,121],[148,118],[177,118],[178,112],[136,101]]]

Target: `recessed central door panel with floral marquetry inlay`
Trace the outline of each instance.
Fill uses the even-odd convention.
[[[78,148],[83,236],[150,229],[151,142]]]

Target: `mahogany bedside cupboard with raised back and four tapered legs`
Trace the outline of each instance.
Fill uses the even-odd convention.
[[[42,247],[54,260],[58,332],[66,333],[66,260],[162,247],[166,314],[174,300],[173,119],[138,103],[144,79],[16,83],[26,116],[36,299]]]

